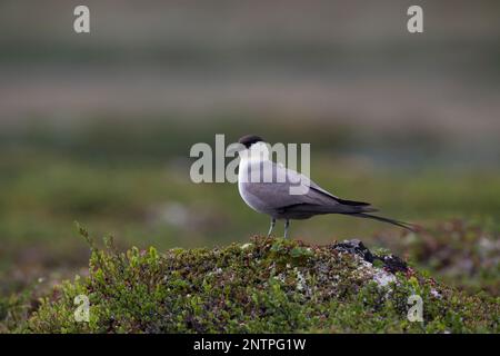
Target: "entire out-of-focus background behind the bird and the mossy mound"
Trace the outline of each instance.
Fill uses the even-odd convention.
[[[0,1],[0,296],[84,274],[74,220],[120,248],[264,234],[236,185],[189,180],[216,134],[311,142],[318,184],[424,228],[324,216],[292,238],[498,295],[499,44],[494,0]]]

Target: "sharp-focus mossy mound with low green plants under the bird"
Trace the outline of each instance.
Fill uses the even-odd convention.
[[[83,231],[83,235],[86,233]],[[93,248],[89,275],[56,287],[36,333],[498,333],[499,300],[409,269],[392,275],[333,245],[256,237],[214,249]],[[407,318],[408,297],[423,322]],[[77,323],[74,297],[90,318]]]

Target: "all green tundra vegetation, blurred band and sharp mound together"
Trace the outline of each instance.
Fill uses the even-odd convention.
[[[219,126],[229,137],[256,132],[243,127],[251,120],[238,132],[228,122]],[[281,128],[268,123],[270,141]],[[347,128],[308,129],[286,136],[314,137],[316,181],[422,229],[326,216],[294,224],[290,241],[279,228],[273,239],[250,240],[266,233],[266,216],[249,210],[233,185],[188,179],[189,147],[213,141],[201,125],[100,120],[0,132],[0,332],[498,332],[498,168],[441,167],[420,151],[432,139],[413,145],[413,134],[388,140],[394,150]],[[446,156],[439,142],[433,150]],[[412,164],[396,154],[386,160],[384,150]],[[92,236],[116,236],[114,247],[89,249],[73,220]],[[356,238],[410,269],[333,248]],[[407,319],[414,291],[423,323]],[[90,298],[88,324],[73,320],[79,294]]]

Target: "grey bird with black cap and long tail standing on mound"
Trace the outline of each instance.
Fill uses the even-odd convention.
[[[276,164],[270,159],[268,144],[259,136],[246,135],[238,144],[236,149],[240,156],[238,190],[250,208],[271,217],[268,237],[271,236],[277,220],[284,220],[284,238],[287,238],[290,220],[326,214],[374,219],[414,230],[411,224],[370,214],[378,209],[369,202],[339,198],[304,175]],[[258,179],[254,179],[256,172],[260,175]],[[304,192],[292,194],[293,187],[303,188]]]

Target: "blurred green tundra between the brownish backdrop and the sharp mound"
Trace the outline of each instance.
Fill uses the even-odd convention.
[[[213,146],[216,134],[226,134],[227,144],[248,132],[271,142],[311,142],[311,176],[318,184],[422,227],[406,235],[378,221],[322,216],[292,221],[291,238],[311,244],[360,238],[468,293],[499,295],[497,164],[453,161],[441,138],[424,132],[366,140],[348,127],[296,123],[287,117],[234,120],[229,115],[166,116],[142,123],[104,118],[3,130],[0,318],[16,325],[12,318],[26,317],[16,310],[36,309],[37,297],[52,285],[86,275],[90,251],[74,220],[96,236],[113,235],[122,250],[226,246],[266,233],[269,218],[249,209],[236,185],[189,179],[191,145]]]

